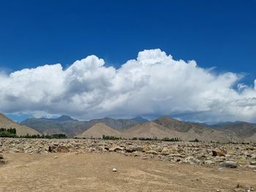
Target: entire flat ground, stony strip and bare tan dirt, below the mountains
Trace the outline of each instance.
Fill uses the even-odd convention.
[[[80,184],[60,184],[69,177]],[[0,191],[254,191],[256,145],[2,138],[0,180]]]

